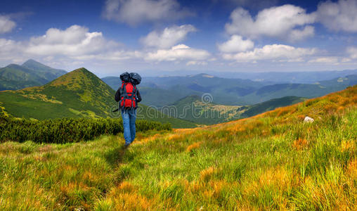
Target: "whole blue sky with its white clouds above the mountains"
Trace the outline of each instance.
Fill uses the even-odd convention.
[[[0,67],[99,77],[356,69],[356,35],[357,0],[0,1]]]

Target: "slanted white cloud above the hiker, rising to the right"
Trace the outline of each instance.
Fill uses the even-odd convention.
[[[175,25],[166,27],[162,32],[152,31],[146,37],[141,38],[140,41],[145,46],[167,49],[183,41],[189,32],[195,31],[196,28],[193,25]]]

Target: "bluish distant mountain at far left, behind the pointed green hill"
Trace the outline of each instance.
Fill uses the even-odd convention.
[[[66,73],[65,70],[51,68],[32,59],[22,65],[7,65],[0,68],[0,91],[41,86]]]

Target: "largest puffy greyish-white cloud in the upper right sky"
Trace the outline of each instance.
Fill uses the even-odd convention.
[[[296,27],[314,23],[315,18],[316,15],[307,14],[304,8],[290,4],[266,8],[254,18],[249,11],[236,8],[231,13],[231,23],[226,24],[226,32],[252,39],[261,35],[287,37],[292,30],[297,30]]]

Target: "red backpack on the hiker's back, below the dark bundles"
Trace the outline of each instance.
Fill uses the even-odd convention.
[[[131,82],[122,81],[122,89],[120,89],[119,106],[121,108],[136,108],[136,86]]]

